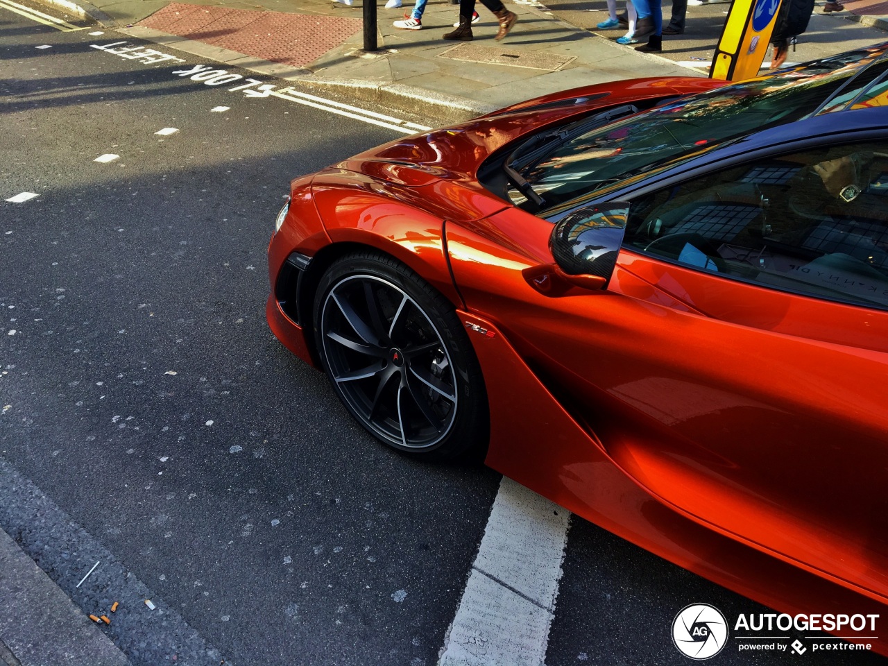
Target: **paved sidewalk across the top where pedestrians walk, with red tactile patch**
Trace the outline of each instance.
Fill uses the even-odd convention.
[[[638,76],[702,76],[708,65],[698,59],[700,67],[683,67],[607,38],[622,31],[602,36],[584,29],[607,17],[603,0],[567,6],[555,0],[557,10],[536,0],[508,0],[519,20],[502,42],[493,38],[496,18],[480,3],[474,40],[448,42],[442,36],[457,19],[457,5],[432,0],[423,29],[403,30],[393,28],[392,21],[409,14],[410,0],[391,10],[380,0],[378,50],[372,53],[362,50],[361,0],[351,7],[330,0],[40,1],[85,12],[129,36],[444,123],[579,85]],[[714,6],[726,10],[729,5]],[[888,28],[888,16],[878,13],[888,14],[888,1],[850,0],[846,8],[845,18]],[[668,6],[664,13],[668,20]],[[690,12],[689,17],[693,22]],[[718,40],[718,34],[704,37],[713,44]],[[836,40],[840,43],[833,52],[850,48],[840,37]]]

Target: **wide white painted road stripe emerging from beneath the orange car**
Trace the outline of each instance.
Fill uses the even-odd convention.
[[[540,666],[570,512],[503,477],[439,666]]]

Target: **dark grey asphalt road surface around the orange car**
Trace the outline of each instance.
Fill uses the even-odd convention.
[[[264,315],[289,179],[398,134],[89,32],[0,11],[0,527],[85,612],[155,600],[107,628],[137,666],[437,662],[499,477],[377,444]],[[686,664],[682,607],[763,610],[568,537],[550,666]],[[755,662],[884,663],[858,657]]]

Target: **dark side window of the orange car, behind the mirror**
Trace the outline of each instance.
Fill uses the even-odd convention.
[[[772,289],[888,307],[888,143],[781,155],[640,197],[623,245]]]

